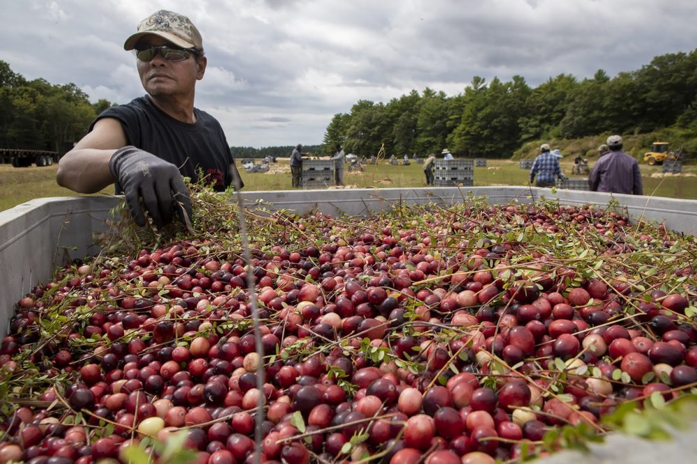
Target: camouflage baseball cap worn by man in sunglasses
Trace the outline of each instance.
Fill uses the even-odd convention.
[[[177,47],[204,51],[201,34],[189,18],[172,11],[160,10],[138,24],[138,32],[126,39],[123,48],[132,50],[143,36],[160,36]]]

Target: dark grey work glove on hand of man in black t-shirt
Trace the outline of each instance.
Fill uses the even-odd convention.
[[[109,171],[118,179],[131,216],[139,226],[146,224],[141,199],[156,226],[171,222],[173,207],[181,222],[189,224],[189,190],[174,164],[135,146],[125,146],[112,155]]]

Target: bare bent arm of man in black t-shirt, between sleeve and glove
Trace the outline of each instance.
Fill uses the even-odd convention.
[[[75,148],[61,157],[56,182],[74,192],[99,192],[116,181],[109,172],[109,160],[118,148],[127,144],[117,119],[100,119]]]

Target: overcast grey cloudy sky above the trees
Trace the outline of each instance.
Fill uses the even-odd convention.
[[[156,10],[190,17],[208,56],[196,106],[233,146],[319,144],[358,100],[474,76],[530,86],[614,77],[697,47],[697,0],[0,0],[0,59],[95,102],[144,94],[126,37]]]

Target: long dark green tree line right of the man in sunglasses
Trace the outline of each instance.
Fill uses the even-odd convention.
[[[527,141],[572,139],[604,132],[641,134],[666,127],[697,136],[697,50],[666,54],[634,72],[610,79],[550,77],[530,88],[521,76],[510,82],[475,76],[464,93],[447,97],[426,88],[387,104],[359,100],[335,114],[323,147],[335,144],[358,155],[452,153],[510,157]]]

